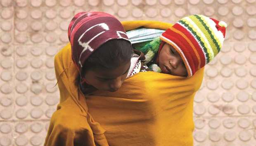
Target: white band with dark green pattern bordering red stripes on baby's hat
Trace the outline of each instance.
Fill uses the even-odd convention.
[[[183,24],[188,30],[190,30],[193,34],[193,37],[195,37],[197,39],[197,41],[199,42],[199,44],[202,46],[202,48],[204,49],[204,53],[206,55],[206,64],[210,62],[210,55],[209,55],[209,51],[207,51],[206,47],[205,47],[205,43],[201,40],[201,37],[199,34],[197,34],[197,32],[195,30],[193,30],[192,27],[190,27],[189,23],[186,23],[184,19],[179,21],[181,24]]]

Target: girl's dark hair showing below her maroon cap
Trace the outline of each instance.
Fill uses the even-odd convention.
[[[128,40],[111,39],[89,56],[83,65],[81,74],[94,68],[115,69],[121,63],[130,61],[132,55],[133,47]],[[80,76],[78,76],[78,81],[79,78]]]

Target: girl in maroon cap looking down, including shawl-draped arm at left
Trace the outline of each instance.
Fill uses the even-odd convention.
[[[45,145],[102,145],[107,141],[97,133],[104,130],[88,113],[84,95],[95,90],[114,92],[127,77],[147,67],[141,64],[140,53],[133,54],[120,21],[110,14],[76,14],[68,36],[70,44],[55,56],[60,104],[51,118]],[[138,64],[140,68],[135,68]]]

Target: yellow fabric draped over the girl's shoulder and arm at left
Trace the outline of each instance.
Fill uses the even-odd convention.
[[[108,146],[105,130],[88,113],[83,93],[75,84],[79,72],[67,44],[55,56],[60,103],[52,115],[45,146]]]

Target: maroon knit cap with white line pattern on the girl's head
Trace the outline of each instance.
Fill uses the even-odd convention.
[[[121,22],[104,12],[80,12],[76,14],[69,23],[68,36],[72,60],[78,67],[80,75],[86,59],[102,44],[111,39],[129,41]],[[81,77],[83,78],[83,76]]]

